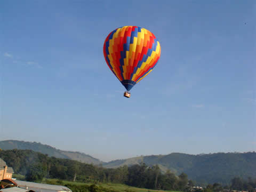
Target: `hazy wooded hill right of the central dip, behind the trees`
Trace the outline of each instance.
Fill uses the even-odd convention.
[[[231,178],[256,178],[256,153],[215,153],[188,155],[172,153],[169,155],[151,155],[121,159],[103,163],[104,167],[116,168],[144,162],[147,165],[158,164],[162,171],[171,170],[175,174],[185,172],[189,179],[197,183],[227,184]]]

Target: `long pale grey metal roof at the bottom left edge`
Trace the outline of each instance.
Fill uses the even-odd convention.
[[[15,183],[17,183],[18,187],[30,189],[38,192],[71,191],[69,188],[65,186],[49,185],[49,184],[20,181],[20,180],[15,180]]]

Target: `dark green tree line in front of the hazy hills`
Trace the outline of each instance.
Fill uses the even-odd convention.
[[[230,186],[222,187],[220,184],[214,183],[204,189],[194,189],[195,183],[188,180],[185,173],[178,176],[170,170],[163,173],[158,165],[148,166],[143,162],[129,167],[106,169],[101,165],[49,157],[33,150],[18,149],[2,150],[0,158],[7,165],[13,167],[15,173],[26,175],[27,181],[54,178],[84,183],[124,183],[140,188],[195,192],[216,192],[230,189],[253,191],[256,188],[256,179],[243,180],[237,177],[231,180]]]

